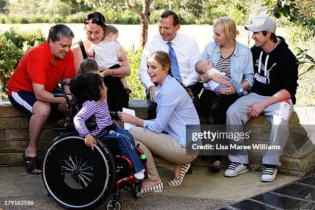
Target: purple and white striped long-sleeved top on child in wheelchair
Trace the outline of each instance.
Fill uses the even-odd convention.
[[[85,121],[89,119],[92,115],[95,115],[96,128],[93,130],[92,135],[97,135],[105,127],[113,124],[110,116],[107,104],[101,100],[101,103],[96,101],[85,101],[82,104],[82,109],[74,117],[75,127],[81,137],[90,134],[90,131],[85,126]]]

